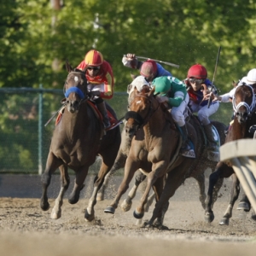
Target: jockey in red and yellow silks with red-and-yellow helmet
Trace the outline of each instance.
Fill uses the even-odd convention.
[[[102,98],[111,99],[113,97],[113,71],[107,61],[104,61],[102,54],[91,49],[77,67],[85,72],[88,81],[87,88],[90,95],[94,96],[94,101],[98,110],[102,113],[105,128],[110,126],[107,108]]]

